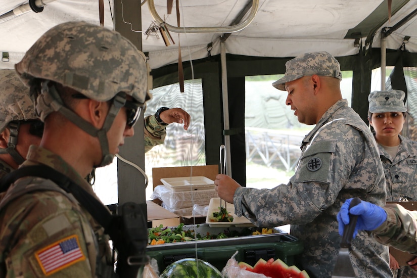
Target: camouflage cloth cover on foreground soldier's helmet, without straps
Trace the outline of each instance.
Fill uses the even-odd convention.
[[[120,91],[140,103],[150,98],[145,55],[120,33],[86,22],[51,28],[15,67],[27,85],[52,80],[97,101]]]

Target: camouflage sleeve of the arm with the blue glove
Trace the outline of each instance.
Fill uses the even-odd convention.
[[[397,204],[387,204],[383,209],[387,220],[372,231],[375,239],[417,255],[417,211],[407,211]]]

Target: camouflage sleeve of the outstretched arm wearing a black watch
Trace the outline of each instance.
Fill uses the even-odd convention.
[[[155,115],[145,117],[145,153],[157,145],[164,144],[166,125],[161,125]]]

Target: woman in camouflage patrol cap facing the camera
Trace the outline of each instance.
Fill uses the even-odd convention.
[[[381,154],[387,186],[387,201],[417,201],[417,142],[401,136],[407,108],[402,90],[373,91],[368,96],[369,124]],[[395,277],[416,277],[409,266],[400,268],[390,255]],[[397,272],[397,273],[396,273]]]

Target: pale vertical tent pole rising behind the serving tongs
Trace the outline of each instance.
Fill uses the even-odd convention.
[[[220,61],[221,61],[221,91],[223,96],[223,133],[230,129],[229,126],[229,102],[227,92],[227,66],[226,66],[226,44],[220,39]],[[226,174],[231,176],[230,160],[230,135],[224,134],[224,146],[226,155]]]

